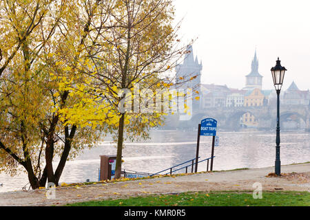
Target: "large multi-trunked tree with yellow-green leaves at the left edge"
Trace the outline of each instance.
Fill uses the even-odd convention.
[[[24,168],[32,188],[46,181],[58,185],[67,159],[101,136],[89,126],[60,120],[58,111],[79,100],[59,87],[69,76],[74,76],[70,85],[79,82],[76,67],[87,61],[93,37],[101,33],[94,25],[106,28],[113,5],[1,1],[0,168],[11,175]]]

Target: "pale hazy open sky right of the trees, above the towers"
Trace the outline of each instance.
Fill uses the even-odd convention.
[[[310,89],[309,0],[174,0],[176,21],[184,18],[183,42],[198,37],[194,56],[203,61],[202,82],[242,89],[255,48],[263,89],[274,89],[270,69],[280,57],[294,80]]]

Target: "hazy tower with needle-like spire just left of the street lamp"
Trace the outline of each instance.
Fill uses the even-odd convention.
[[[251,63],[251,72],[245,76],[245,87],[243,89],[262,89],[262,76],[258,73],[258,58],[256,50]]]

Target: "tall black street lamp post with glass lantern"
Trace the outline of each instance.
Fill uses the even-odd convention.
[[[276,128],[276,162],[275,162],[275,173],[281,175],[281,162],[280,162],[280,91],[285,76],[285,67],[281,66],[281,61],[278,58],[276,66],[271,68],[271,74],[273,78],[273,85],[277,92],[277,128]]]

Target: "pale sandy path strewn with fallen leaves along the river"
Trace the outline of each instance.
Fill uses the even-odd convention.
[[[66,186],[56,188],[55,199],[47,199],[46,189],[2,192],[0,206],[63,206],[81,201],[189,191],[253,191],[252,186],[256,182],[262,184],[264,191],[310,192],[310,164],[294,164],[281,168],[284,174],[281,177],[268,176],[274,171],[273,167],[268,167]]]

